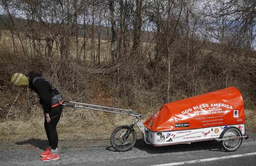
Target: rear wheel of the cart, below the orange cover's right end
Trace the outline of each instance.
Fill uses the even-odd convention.
[[[220,134],[220,139],[231,138],[231,137],[240,137],[242,136],[242,132],[235,126],[229,126]],[[232,140],[221,140],[221,147],[228,151],[233,152],[236,151],[242,144],[243,138],[232,139]]]

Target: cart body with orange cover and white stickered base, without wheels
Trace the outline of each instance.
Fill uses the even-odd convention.
[[[144,126],[144,140],[154,146],[218,140],[229,126],[245,135],[243,97],[236,87],[228,87],[168,103]]]

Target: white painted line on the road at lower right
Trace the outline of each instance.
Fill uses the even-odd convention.
[[[227,158],[235,158],[235,157],[245,157],[245,156],[251,156],[251,155],[256,155],[256,152],[240,154],[240,155],[232,155],[232,156],[205,158],[205,159],[200,159],[200,160],[183,161],[183,162],[177,162],[177,163],[160,164],[160,165],[154,165],[154,166],[178,166],[178,165],[183,165],[183,164],[192,164],[192,163],[199,163],[199,162],[213,161],[213,160],[227,159]]]

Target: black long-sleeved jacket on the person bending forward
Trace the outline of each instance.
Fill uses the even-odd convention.
[[[37,79],[32,83],[33,79],[41,77],[41,74],[35,73],[34,71],[29,72],[29,86],[32,90],[36,91],[40,99],[40,104],[43,105],[44,112],[48,113],[52,106],[53,92],[55,95],[60,94],[57,89],[53,88],[52,85],[46,79]]]

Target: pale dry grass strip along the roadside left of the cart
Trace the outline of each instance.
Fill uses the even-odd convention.
[[[146,111],[148,113],[148,109]],[[152,110],[150,112],[154,111]],[[14,108],[12,112],[17,114],[17,108]],[[37,105],[32,108],[31,114],[27,114],[27,120],[13,121],[9,117],[8,120],[1,122],[0,141],[46,140],[44,116],[42,113],[40,106]],[[86,109],[73,111],[65,107],[58,123],[57,131],[60,140],[105,140],[110,139],[110,135],[116,127],[130,125],[133,120],[133,117],[127,115],[110,114]],[[142,121],[144,122],[145,120],[146,118]]]

